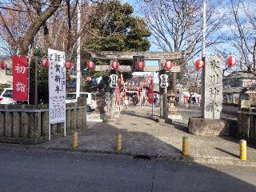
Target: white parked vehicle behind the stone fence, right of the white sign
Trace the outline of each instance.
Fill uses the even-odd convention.
[[[96,107],[96,98],[94,93],[80,92],[79,95],[81,98],[87,98],[87,111],[95,110]],[[76,102],[76,93],[66,94],[66,103]]]

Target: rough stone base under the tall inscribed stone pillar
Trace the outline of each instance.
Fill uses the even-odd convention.
[[[218,119],[190,118],[189,133],[202,136],[230,135],[228,123]]]

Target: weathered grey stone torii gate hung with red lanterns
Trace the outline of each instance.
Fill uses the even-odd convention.
[[[156,72],[159,74],[165,73],[165,70],[162,69],[162,63],[166,60],[177,61],[182,58],[185,58],[186,54],[190,54],[190,50],[183,50],[177,52],[150,52],[150,51],[98,51],[92,52],[88,51],[92,58],[98,59],[110,59],[110,64],[114,60],[133,60],[134,57],[142,57],[144,60],[158,60],[158,66],[145,66],[143,72]],[[110,66],[96,66],[96,71],[106,71],[111,70]],[[131,72],[134,71],[133,66],[120,66],[119,70],[122,72]],[[174,64],[173,69],[170,71],[173,73],[180,72],[180,66]],[[168,119],[168,103],[167,103],[167,88],[161,88],[159,86],[160,94],[160,119]],[[110,92],[110,99],[112,102],[112,107],[108,118],[114,118],[114,92]],[[160,121],[159,119],[159,121]]]

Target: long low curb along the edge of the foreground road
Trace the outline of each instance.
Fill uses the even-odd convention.
[[[182,154],[174,154],[174,155],[157,155],[157,154],[138,154],[132,152],[121,152],[118,153],[115,150],[82,150],[76,149],[73,150],[70,148],[54,148],[54,147],[47,147],[47,146],[25,146],[25,145],[18,145],[18,144],[1,144],[0,150],[3,148],[12,148],[14,150],[18,149],[26,149],[26,150],[48,150],[48,151],[57,151],[57,152],[71,152],[71,153],[82,153],[82,154],[115,154],[115,155],[124,155],[129,157],[134,156],[147,156],[154,159],[159,160],[169,160],[169,161],[176,161],[176,162],[186,162],[186,163],[198,163],[203,165],[226,165],[226,166],[250,166],[256,167],[256,162],[242,162],[240,159],[230,159],[230,158],[206,158],[206,157],[191,157],[191,156],[183,156]]]

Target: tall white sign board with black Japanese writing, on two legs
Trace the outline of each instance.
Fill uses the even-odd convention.
[[[48,59],[50,62],[48,76],[50,125],[58,122],[66,122],[65,53],[48,49]],[[64,124],[66,125],[66,123]],[[66,136],[66,127],[64,128],[64,135]]]

